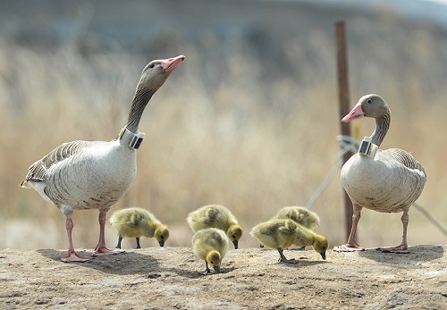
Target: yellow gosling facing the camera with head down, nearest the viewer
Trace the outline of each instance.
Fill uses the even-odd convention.
[[[205,272],[203,275],[211,274],[209,266],[213,267],[215,273],[221,272],[223,256],[228,251],[228,238],[223,230],[207,228],[198,230],[192,237],[192,248],[198,258],[205,261]]]

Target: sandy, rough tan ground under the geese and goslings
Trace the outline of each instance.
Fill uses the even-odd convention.
[[[1,309],[447,309],[447,246],[409,255],[231,249],[223,273],[190,247],[148,247],[62,263],[65,250],[0,251]],[[91,250],[83,250],[91,255]]]

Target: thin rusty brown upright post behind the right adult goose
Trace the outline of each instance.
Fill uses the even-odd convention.
[[[337,21],[335,23],[335,37],[337,39],[337,78],[338,78],[338,97],[339,97],[339,112],[340,120],[343,116],[350,113],[350,88],[348,83],[348,52],[346,48],[346,31],[344,28],[344,21]],[[350,137],[350,123],[340,122],[342,127],[342,135]],[[343,163],[350,159],[350,152],[343,156]],[[350,197],[343,190],[344,193],[344,211],[346,222],[346,239],[350,235],[350,228],[352,226],[352,203]]]

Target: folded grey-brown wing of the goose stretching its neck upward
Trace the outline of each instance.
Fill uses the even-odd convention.
[[[30,170],[25,177],[25,180],[21,182],[21,186],[28,181],[41,182],[45,180],[45,173],[51,166],[55,165],[56,163],[63,162],[72,155],[75,155],[86,147],[91,146],[93,143],[93,141],[79,140],[63,143],[63,145],[56,147],[48,155],[30,165]]]

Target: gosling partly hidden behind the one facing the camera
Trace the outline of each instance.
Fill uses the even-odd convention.
[[[234,248],[238,248],[242,227],[236,217],[223,205],[205,205],[188,214],[186,221],[194,232],[206,228],[218,228],[225,231],[232,240]]]

